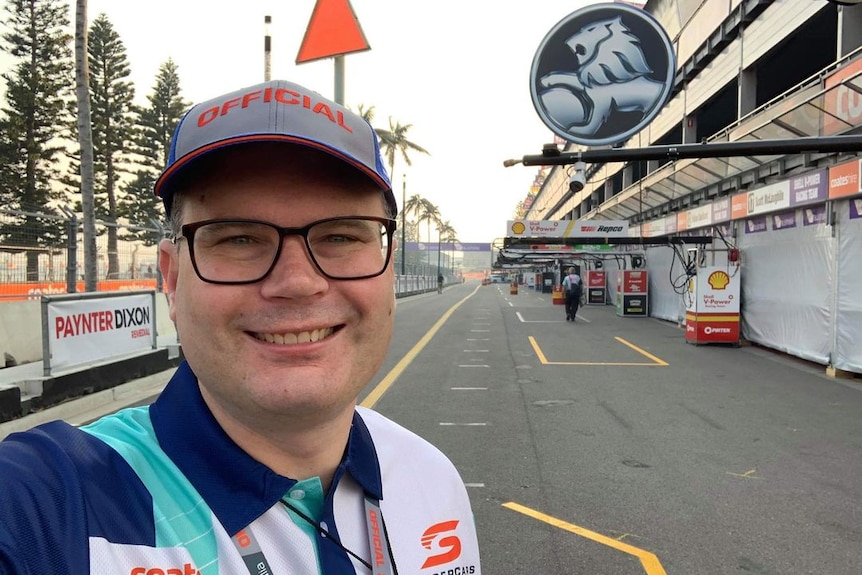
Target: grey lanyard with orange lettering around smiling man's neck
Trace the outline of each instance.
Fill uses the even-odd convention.
[[[342,551],[371,569],[372,575],[398,575],[398,569],[395,567],[395,559],[392,556],[392,549],[389,545],[389,534],[386,532],[386,522],[383,520],[383,513],[380,511],[380,501],[377,499],[365,496],[365,527],[368,530],[368,547],[371,553],[370,563],[342,545],[341,541],[321,527],[320,523],[314,521],[290,503],[284,500],[281,502],[285,507],[311,524],[320,535],[326,537],[341,548]],[[234,546],[242,556],[246,569],[248,569],[251,575],[273,575],[272,569],[266,560],[266,555],[264,555],[263,550],[260,548],[260,544],[257,542],[251,526],[241,529],[236,535],[231,537],[231,541],[233,541]]]

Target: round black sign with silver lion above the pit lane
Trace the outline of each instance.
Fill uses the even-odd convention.
[[[533,106],[552,132],[585,146],[616,144],[649,124],[670,98],[676,59],[646,11],[593,4],[561,20],[533,58]]]

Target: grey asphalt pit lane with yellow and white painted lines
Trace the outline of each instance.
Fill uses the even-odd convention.
[[[458,467],[483,573],[862,573],[862,380],[519,291],[399,299],[361,397]]]

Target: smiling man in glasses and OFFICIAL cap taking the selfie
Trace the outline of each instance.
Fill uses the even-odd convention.
[[[0,573],[480,573],[452,463],[356,407],[395,311],[371,127],[245,88],[186,114],[155,190],[186,361],[152,406],[0,444]]]

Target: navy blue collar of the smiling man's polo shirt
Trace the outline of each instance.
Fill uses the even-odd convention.
[[[236,533],[277,503],[296,483],[253,459],[228,437],[201,397],[184,361],[150,406],[159,445],[206,501],[228,533]],[[383,498],[380,465],[371,434],[353,414],[347,449],[333,487],[350,476],[365,493]]]

